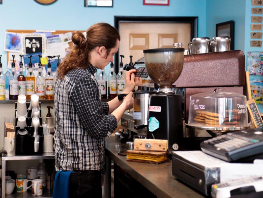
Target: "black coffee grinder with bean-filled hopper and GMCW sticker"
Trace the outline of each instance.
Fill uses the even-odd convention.
[[[148,139],[167,139],[168,153],[181,149],[183,138],[181,97],[172,90],[184,64],[184,48],[143,50],[145,72],[159,86],[134,92],[134,128],[147,127]]]

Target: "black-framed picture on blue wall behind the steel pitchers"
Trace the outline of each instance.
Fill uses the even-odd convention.
[[[235,40],[235,22],[234,21],[226,21],[224,23],[216,24],[216,36],[229,36],[230,41],[230,50],[234,49],[234,40]]]

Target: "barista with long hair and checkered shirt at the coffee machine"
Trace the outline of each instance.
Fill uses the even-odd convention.
[[[105,173],[105,137],[117,128],[125,110],[133,107],[134,72],[126,74],[124,100],[102,103],[94,77],[113,62],[120,44],[118,31],[107,23],[92,25],[84,35],[72,34],[75,44],[58,67],[55,86],[56,170],[71,171],[69,197],[101,197]]]

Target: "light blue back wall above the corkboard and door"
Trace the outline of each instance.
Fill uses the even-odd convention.
[[[33,0],[4,0],[0,5],[0,54],[4,32],[13,30],[86,30],[98,22],[114,25],[114,16],[198,16],[198,36],[206,34],[206,0],[170,0],[169,6],[144,6],[143,0],[114,0],[113,8],[84,7],[84,0],[58,0],[41,5]],[[109,68],[107,66],[106,73]]]

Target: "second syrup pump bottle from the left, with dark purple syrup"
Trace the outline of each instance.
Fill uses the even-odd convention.
[[[9,100],[17,100],[18,98],[18,80],[15,73],[15,55],[12,55],[12,73],[9,76]]]

